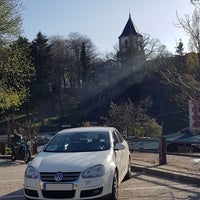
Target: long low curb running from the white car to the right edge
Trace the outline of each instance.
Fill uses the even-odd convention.
[[[163,169],[155,169],[155,168],[149,168],[149,167],[139,167],[137,165],[132,164],[131,170],[133,172],[143,172],[147,174],[152,174],[154,176],[159,177],[165,177],[165,178],[171,178],[178,181],[183,181],[191,184],[200,184],[200,178],[190,175],[184,175],[180,172],[169,172],[167,170]]]

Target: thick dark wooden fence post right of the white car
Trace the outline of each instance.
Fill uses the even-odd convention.
[[[167,163],[166,159],[166,137],[160,136],[159,137],[159,165],[164,165]]]

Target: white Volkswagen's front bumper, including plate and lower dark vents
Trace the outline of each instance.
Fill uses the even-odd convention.
[[[112,178],[108,175],[92,179],[79,179],[71,183],[24,180],[24,196],[31,199],[102,199],[112,192]]]

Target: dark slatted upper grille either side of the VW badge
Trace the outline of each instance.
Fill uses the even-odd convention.
[[[44,182],[57,182],[55,180],[55,172],[40,172],[41,180]],[[63,178],[60,182],[73,182],[76,181],[80,172],[62,172]]]

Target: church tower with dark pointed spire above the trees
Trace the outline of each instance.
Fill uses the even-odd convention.
[[[138,33],[133,25],[131,15],[124,27],[123,32],[119,36],[119,51],[117,52],[117,60],[123,64],[134,64],[138,57],[143,56],[143,36]]]

